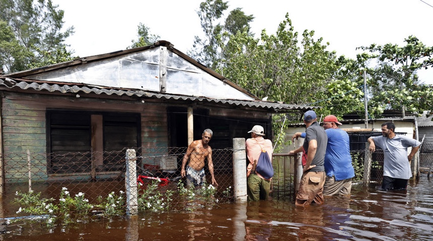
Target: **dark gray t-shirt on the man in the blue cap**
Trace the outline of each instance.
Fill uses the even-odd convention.
[[[311,140],[317,141],[317,150],[316,155],[313,158],[313,161],[311,162],[311,165],[316,165],[312,169],[310,169],[310,172],[323,172],[325,171],[325,167],[323,166],[325,164],[325,152],[326,152],[326,144],[328,143],[328,136],[326,135],[325,130],[319,126],[317,122],[314,122],[311,124],[310,127],[307,128],[305,131],[305,140],[304,140],[304,150],[307,153],[308,156],[308,143]]]

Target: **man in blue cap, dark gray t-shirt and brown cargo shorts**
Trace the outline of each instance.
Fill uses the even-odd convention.
[[[322,204],[323,185],[325,184],[325,152],[327,136],[317,123],[317,115],[313,110],[304,113],[305,131],[304,150],[307,154],[307,163],[303,168],[299,191],[296,195],[297,206],[307,206],[313,201]]]

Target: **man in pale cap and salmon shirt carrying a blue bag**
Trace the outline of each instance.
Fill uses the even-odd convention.
[[[267,152],[269,160],[272,161],[272,142],[263,138],[265,134],[262,126],[254,126],[248,133],[251,133],[251,138],[245,142],[249,160],[247,167],[248,201],[266,200],[269,196],[271,178],[265,179],[255,169],[262,150]]]

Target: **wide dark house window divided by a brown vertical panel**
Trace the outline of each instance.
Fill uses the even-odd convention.
[[[118,171],[124,149],[140,146],[140,114],[47,111],[48,173]]]

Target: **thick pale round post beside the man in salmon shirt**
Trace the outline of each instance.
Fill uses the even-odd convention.
[[[233,139],[233,191],[235,202],[247,201],[245,138]]]

